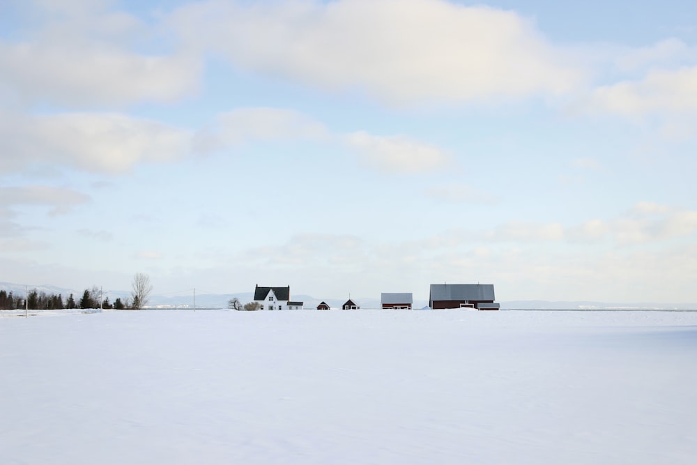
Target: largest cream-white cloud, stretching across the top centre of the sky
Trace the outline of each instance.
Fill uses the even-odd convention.
[[[208,1],[167,20],[239,68],[396,105],[527,98],[583,72],[520,15],[442,0]]]

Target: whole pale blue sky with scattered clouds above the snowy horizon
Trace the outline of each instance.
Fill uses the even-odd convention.
[[[697,302],[697,3],[0,10],[0,281]]]

